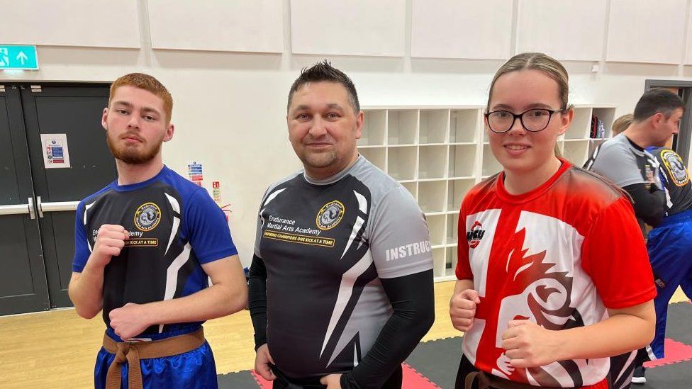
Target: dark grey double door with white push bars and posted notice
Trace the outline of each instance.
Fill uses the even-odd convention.
[[[0,81],[0,315],[71,305],[74,209],[116,177],[107,103],[106,85]],[[41,134],[67,136],[71,167],[45,168]]]

